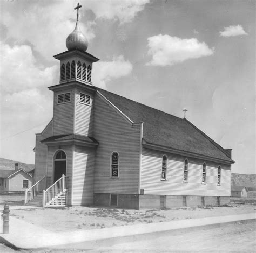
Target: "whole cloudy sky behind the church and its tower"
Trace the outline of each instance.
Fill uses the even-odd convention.
[[[186,118],[255,174],[255,2],[80,0],[94,86]],[[77,1],[2,0],[0,157],[35,163]]]

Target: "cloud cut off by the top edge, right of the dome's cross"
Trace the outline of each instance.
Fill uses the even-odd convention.
[[[96,18],[119,20],[120,23],[131,22],[138,12],[144,10],[150,0],[112,0],[88,1],[86,4],[96,15]]]

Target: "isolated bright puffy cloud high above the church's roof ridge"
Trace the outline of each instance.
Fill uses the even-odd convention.
[[[214,48],[209,48],[204,42],[196,38],[181,39],[169,35],[156,35],[147,38],[147,54],[152,55],[152,60],[146,65],[166,66],[212,55]]]

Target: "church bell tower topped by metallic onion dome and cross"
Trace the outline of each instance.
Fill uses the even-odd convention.
[[[53,135],[93,135],[92,65],[99,59],[86,52],[88,40],[79,28],[79,8],[75,29],[66,38],[68,51],[54,55],[60,61],[59,84],[49,87],[54,92]]]

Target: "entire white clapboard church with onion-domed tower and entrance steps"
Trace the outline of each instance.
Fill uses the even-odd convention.
[[[80,6],[77,6],[77,10]],[[231,149],[189,122],[93,86],[79,29],[66,39],[53,117],[36,135],[35,182],[26,205],[172,208],[223,205]]]

